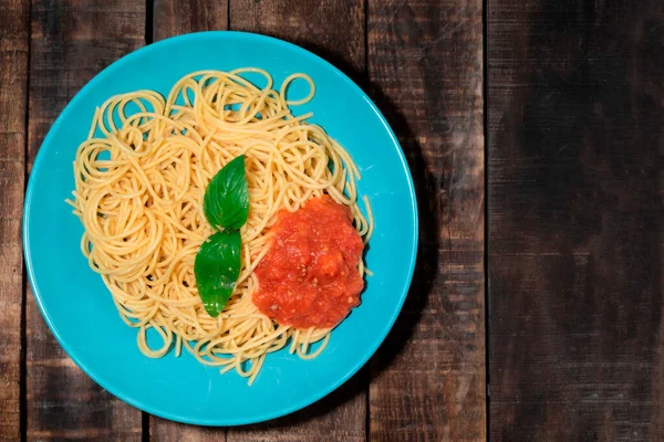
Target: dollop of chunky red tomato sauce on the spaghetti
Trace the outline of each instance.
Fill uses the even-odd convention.
[[[282,210],[268,253],[256,267],[253,304],[281,325],[331,328],[360,304],[364,244],[351,211],[328,196]]]

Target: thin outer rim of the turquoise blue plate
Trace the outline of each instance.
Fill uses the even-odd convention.
[[[116,387],[114,385],[107,385],[107,382],[100,381],[100,379],[97,378],[95,372],[93,372],[93,370],[91,370],[87,367],[87,365],[84,361],[82,361],[79,356],[76,356],[76,351],[61,338],[60,333],[58,332],[58,328],[54,326],[51,317],[49,316],[49,313],[44,309],[43,304],[42,304],[42,297],[40,294],[39,284],[34,278],[34,273],[33,273],[33,267],[32,267],[32,253],[30,250],[30,241],[29,241],[31,202],[32,202],[33,192],[34,192],[34,189],[33,189],[34,185],[33,185],[32,176],[39,175],[39,170],[42,168],[42,162],[43,162],[43,158],[44,158],[44,155],[42,155],[44,149],[42,149],[42,147],[50,145],[51,138],[54,136],[53,135],[54,129],[56,127],[59,127],[62,124],[62,120],[64,120],[65,117],[72,112],[71,109],[74,107],[75,103],[77,103],[80,99],[83,99],[82,97],[85,95],[87,90],[92,90],[93,87],[95,87],[96,83],[98,83],[102,77],[113,75],[113,72],[115,70],[121,69],[122,65],[132,62],[134,59],[139,59],[141,56],[143,56],[143,53],[153,51],[156,46],[162,46],[162,45],[177,44],[177,43],[191,44],[197,39],[201,39],[201,38],[205,39],[208,36],[218,38],[218,39],[227,39],[227,38],[240,39],[240,41],[243,40],[243,42],[248,43],[248,44],[251,44],[253,41],[263,41],[263,42],[268,42],[270,44],[274,44],[277,46],[282,46],[288,50],[295,51],[295,52],[300,53],[302,56],[304,56],[305,59],[312,59],[313,61],[315,61],[318,63],[322,63],[322,65],[326,70],[329,70],[330,72],[332,72],[333,74],[339,76],[344,83],[350,85],[351,90],[354,90],[354,92],[356,94],[359,94],[359,96],[369,104],[372,112],[380,119],[381,124],[383,125],[384,129],[386,130],[392,143],[396,147],[396,154],[398,156],[398,159],[401,161],[403,169],[405,170],[406,183],[407,183],[408,193],[411,197],[411,210],[413,213],[413,219],[412,219],[412,222],[414,225],[413,238],[412,238],[413,246],[412,246],[411,256],[409,256],[409,269],[407,272],[408,276],[407,276],[406,281],[404,281],[404,291],[401,294],[397,305],[395,306],[396,308],[394,309],[394,314],[392,315],[390,320],[386,323],[385,327],[378,334],[380,338],[377,338],[375,340],[374,345],[370,346],[371,350],[366,351],[363,355],[363,357],[361,357],[356,360],[356,362],[350,370],[347,370],[345,373],[343,373],[343,376],[340,376],[334,382],[331,382],[331,385],[328,386],[326,388],[321,388],[321,389],[317,390],[315,393],[309,394],[305,398],[301,399],[300,401],[295,401],[287,407],[276,409],[272,412],[260,412],[260,413],[252,415],[249,419],[230,419],[230,420],[228,420],[228,419],[224,419],[222,415],[220,415],[218,419],[212,419],[212,420],[197,419],[196,417],[180,415],[178,413],[162,411],[158,408],[158,406],[155,407],[153,404],[145,403],[141,400],[136,400],[136,399],[132,398],[131,394],[127,394],[126,392],[123,392],[123,391],[118,391],[118,389],[116,389]],[[377,108],[375,103],[346,74],[344,74],[342,71],[340,71],[338,67],[335,67],[332,63],[328,62],[323,57],[305,50],[304,48],[301,48],[297,44],[287,42],[281,39],[277,39],[277,38],[269,36],[269,35],[263,35],[263,34],[259,34],[259,33],[243,32],[243,31],[203,31],[203,32],[193,32],[193,33],[186,33],[186,34],[172,36],[172,38],[164,39],[158,42],[142,46],[137,50],[134,50],[134,51],[129,52],[128,54],[125,54],[124,56],[115,60],[113,63],[111,63],[106,67],[104,67],[101,72],[95,74],[79,92],[76,92],[76,94],[65,105],[65,107],[62,109],[62,112],[59,114],[59,116],[53,120],[53,124],[49,128],[49,131],[48,131],[46,136],[44,137],[44,139],[42,140],[42,143],[40,145],[40,149],[38,150],[37,156],[34,158],[32,169],[28,177],[28,185],[27,185],[27,189],[25,189],[21,233],[22,233],[22,246],[23,246],[23,254],[24,254],[24,260],[25,260],[25,270],[27,270],[28,281],[32,288],[32,295],[37,302],[39,311],[40,311],[42,317],[44,318],[44,322],[46,323],[50,332],[53,334],[53,336],[58,340],[58,344],[60,344],[62,349],[66,352],[68,357],[70,359],[72,359],[74,361],[74,364],[87,377],[90,377],[94,382],[96,382],[100,387],[102,387],[103,389],[108,391],[111,394],[113,394],[117,399],[124,401],[125,403],[128,403],[129,406],[132,406],[141,411],[147,412],[149,414],[154,414],[154,415],[163,418],[163,419],[172,420],[175,422],[181,422],[181,423],[186,423],[186,424],[203,425],[203,427],[235,427],[235,425],[247,425],[247,424],[251,424],[251,423],[264,422],[264,421],[273,420],[277,418],[281,418],[283,415],[293,413],[298,410],[309,407],[314,402],[318,402],[320,399],[326,397],[332,391],[336,390],[343,383],[345,383],[376,354],[376,351],[383,345],[383,343],[385,341],[385,338],[392,330],[392,327],[394,326],[396,318],[401,314],[404,302],[406,299],[406,296],[409,292],[409,288],[411,288],[412,282],[413,282],[413,274],[414,274],[415,265],[417,262],[417,250],[418,250],[418,238],[419,238],[419,214],[418,214],[418,204],[417,204],[417,197],[416,197],[416,192],[415,192],[415,186],[413,182],[413,176],[412,176],[408,162],[406,161],[403,148],[402,148],[401,144],[398,143],[398,138],[394,134],[394,130],[387,123],[387,119],[381,113],[381,110]],[[122,390],[122,389],[120,389],[120,390]]]

